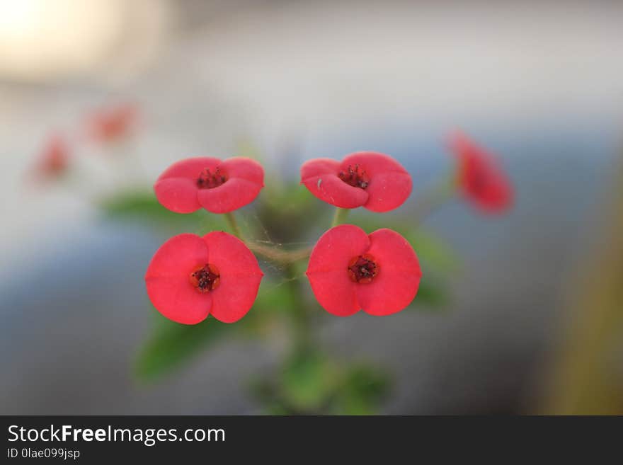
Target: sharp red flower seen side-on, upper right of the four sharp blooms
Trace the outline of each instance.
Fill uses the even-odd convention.
[[[341,208],[365,207],[389,212],[411,193],[411,176],[391,156],[358,151],[340,162],[314,159],[303,163],[301,183],[320,200]]]

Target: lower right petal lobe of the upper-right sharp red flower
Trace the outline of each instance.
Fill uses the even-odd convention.
[[[411,176],[390,171],[371,176],[366,191],[370,197],[363,205],[372,212],[389,212],[400,207],[411,194]]]

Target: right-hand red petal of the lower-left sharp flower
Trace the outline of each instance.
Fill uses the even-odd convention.
[[[233,323],[245,316],[258,294],[263,272],[258,260],[240,239],[222,231],[203,236],[210,264],[219,270],[219,287],[210,292],[212,316]]]

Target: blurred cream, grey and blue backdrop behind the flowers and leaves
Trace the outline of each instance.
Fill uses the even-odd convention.
[[[137,380],[166,235],[101,199],[186,156],[256,154],[296,181],[371,149],[413,174],[390,214],[408,221],[457,127],[499,154],[514,209],[434,212],[460,262],[447,302],[324,318],[321,340],[391,372],[381,413],[623,413],[622,23],[617,1],[0,0],[0,413],[261,413],[248,379],[279,337]],[[127,102],[131,138],[84,139]],[[33,182],[52,132],[78,174]]]

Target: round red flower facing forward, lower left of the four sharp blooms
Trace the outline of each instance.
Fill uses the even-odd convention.
[[[145,282],[152,304],[170,320],[196,324],[211,314],[232,323],[251,309],[262,276],[240,239],[215,231],[166,241],[149,263]]]

